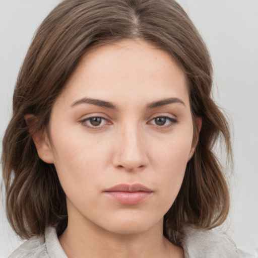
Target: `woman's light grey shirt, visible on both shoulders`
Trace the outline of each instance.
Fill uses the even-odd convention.
[[[251,258],[226,235],[216,230],[187,228],[182,242],[184,258]],[[68,258],[52,227],[18,247],[9,258]]]

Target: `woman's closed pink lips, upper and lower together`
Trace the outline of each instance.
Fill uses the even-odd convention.
[[[150,197],[153,190],[142,184],[117,184],[106,189],[104,193],[120,204],[136,205]]]

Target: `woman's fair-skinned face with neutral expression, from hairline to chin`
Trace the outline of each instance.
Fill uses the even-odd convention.
[[[181,69],[165,51],[124,40],[83,56],[53,106],[49,141],[36,146],[55,165],[69,221],[139,233],[162,225],[192,136]]]

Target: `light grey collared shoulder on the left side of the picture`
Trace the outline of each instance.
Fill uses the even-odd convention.
[[[34,236],[20,245],[8,258],[67,258],[54,228],[42,236]]]

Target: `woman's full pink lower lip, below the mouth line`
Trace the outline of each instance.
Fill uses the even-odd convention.
[[[140,204],[145,199],[147,199],[152,192],[147,191],[136,191],[136,192],[127,192],[127,191],[106,191],[105,195],[112,198],[120,204],[134,205]]]

